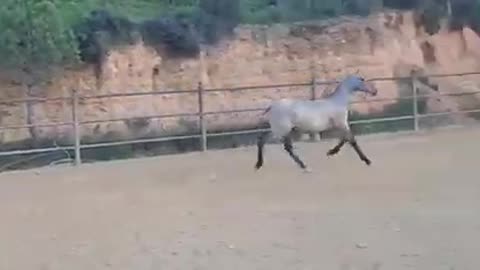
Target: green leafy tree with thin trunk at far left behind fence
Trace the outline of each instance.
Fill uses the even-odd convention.
[[[27,96],[50,71],[77,60],[75,38],[64,25],[54,2],[48,0],[3,0],[0,9],[0,65],[20,70]],[[34,117],[33,103],[26,103],[27,124]],[[38,134],[30,128],[35,141]]]

